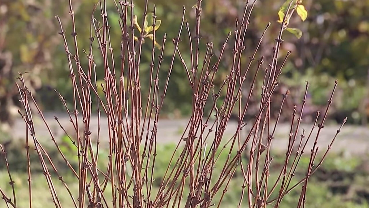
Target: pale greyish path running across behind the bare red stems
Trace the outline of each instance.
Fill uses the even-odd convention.
[[[71,128],[72,124],[69,121],[69,117],[65,114],[55,114],[55,113],[46,113],[45,118],[48,122],[49,126],[52,129],[53,134],[56,138],[59,138],[63,131],[59,127],[59,124],[55,121],[54,115],[58,117],[59,122],[63,125],[65,129]],[[35,115],[36,117],[36,115]],[[82,121],[82,120],[80,120]],[[159,120],[158,123],[158,142],[160,143],[169,143],[169,142],[178,142],[178,139],[182,135],[184,129],[186,128],[188,120]],[[98,127],[97,116],[92,117],[91,129],[93,132],[93,136],[96,137]],[[225,131],[225,138],[231,138],[237,128],[237,123],[230,122]],[[245,127],[245,131],[250,128],[250,125]],[[289,134],[289,124],[279,124],[279,127],[276,130],[275,140],[273,141],[273,149],[283,151],[286,149],[288,144],[288,134]],[[310,132],[311,124],[301,125],[301,129],[299,134],[302,132],[302,128],[305,128],[307,133]],[[321,151],[325,151],[327,145],[331,142],[334,137],[338,125],[327,125],[322,129],[321,135],[318,140],[318,145],[320,146]],[[40,140],[46,141],[50,139],[49,132],[47,131],[46,126],[42,122],[41,118],[35,118],[35,130],[36,135]],[[313,132],[313,137],[310,140],[310,146],[307,150],[310,150],[311,145],[313,144],[313,140],[315,139],[315,135],[317,132],[317,128]],[[314,134],[315,133],[315,134]],[[16,124],[13,129],[13,135],[15,138],[24,138],[25,134],[25,124],[23,120],[20,118],[16,121]],[[246,132],[243,132],[245,135]],[[101,119],[101,141],[107,141],[108,133],[107,133],[107,120],[106,118]],[[0,139],[1,140],[1,139]],[[369,128],[367,127],[359,127],[359,126],[350,126],[345,125],[338,135],[334,146],[333,151],[342,151],[351,153],[351,154],[363,154],[368,152],[369,150]]]

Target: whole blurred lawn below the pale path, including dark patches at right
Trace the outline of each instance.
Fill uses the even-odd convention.
[[[169,164],[172,152],[175,149],[175,145],[166,144],[158,145],[156,157],[156,165],[154,168],[154,182],[153,190],[154,196],[157,192],[159,184],[165,174],[166,168]],[[71,171],[66,167],[63,160],[58,156],[58,152],[52,151],[53,148],[48,148],[49,155],[53,158],[56,168],[59,174],[63,177],[63,180],[75,199],[78,193],[78,180],[71,173]],[[18,147],[11,146],[7,150],[7,158],[10,164],[11,175],[15,181],[14,187],[16,191],[16,199],[18,207],[28,207],[28,182],[27,182],[27,160],[25,159],[25,151]],[[34,151],[31,151],[31,153]],[[63,152],[70,161],[72,165],[76,167],[77,161],[72,151],[68,151],[68,146],[63,146]],[[228,151],[223,151],[220,153],[218,158],[218,165],[224,164],[228,157]],[[232,154],[235,154],[233,152]],[[106,170],[106,160],[107,152],[100,150],[98,166],[101,170]],[[31,154],[31,170],[32,170],[32,202],[34,207],[54,207],[51,194],[48,189],[48,185],[45,182],[45,176],[42,174],[40,169],[40,164],[37,160],[37,155],[35,153]],[[178,154],[175,155],[175,158]],[[308,184],[306,205],[309,208],[314,207],[325,207],[325,208],[366,208],[368,205],[369,197],[369,178],[367,177],[367,170],[364,170],[365,157],[352,156],[348,157],[344,154],[331,154],[325,161],[323,166],[311,177],[310,183]],[[296,171],[296,180],[292,180],[291,184],[295,184],[298,178],[301,178],[305,174],[305,168],[308,164],[308,155],[304,155],[301,158],[300,166]],[[270,167],[270,181],[275,181],[279,175],[282,168],[284,157],[282,154],[274,153],[273,164]],[[173,162],[172,162],[173,165]],[[51,170],[51,168],[50,168]],[[127,171],[130,169],[128,168]],[[215,167],[215,176],[220,174],[219,171],[221,167]],[[150,170],[151,171],[151,170]],[[232,177],[230,184],[227,188],[227,192],[224,195],[223,201],[220,207],[237,207],[239,202],[239,197],[242,195],[242,184],[244,178],[241,174],[241,170],[237,170],[235,175]],[[58,198],[61,201],[63,207],[73,207],[73,201],[70,195],[66,191],[65,186],[54,171],[51,171],[53,183],[58,194]],[[127,174],[130,175],[130,174]],[[103,181],[101,177],[101,181]],[[0,187],[11,197],[12,188],[9,184],[8,173],[4,166],[3,160],[0,163]],[[187,187],[186,187],[187,188]],[[269,187],[271,188],[271,187]],[[278,187],[276,188],[276,190]],[[184,192],[186,193],[186,189]],[[283,203],[280,207],[289,208],[296,207],[297,200],[301,191],[301,185],[298,185],[296,189],[290,192],[283,199]],[[145,193],[144,193],[145,194]],[[218,192],[213,198],[213,202],[217,205],[220,200],[222,191]],[[274,194],[274,193],[273,193]],[[276,194],[276,193],[275,193]],[[107,201],[111,201],[111,188],[109,183],[107,188],[104,190],[104,195]],[[272,197],[273,198],[273,197]],[[185,200],[185,199],[182,199]],[[244,201],[242,205],[245,205]],[[184,205],[184,203],[183,203]],[[0,207],[5,207],[4,201],[0,201]],[[273,203],[269,205],[273,207]]]

